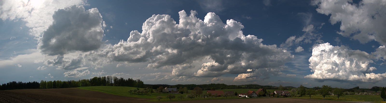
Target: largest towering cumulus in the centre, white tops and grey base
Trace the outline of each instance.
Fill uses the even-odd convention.
[[[244,26],[237,21],[224,24],[215,13],[208,13],[202,21],[195,15],[196,11],[190,15],[180,11],[179,24],[169,15],[153,15],[143,23],[142,33],[132,31],[127,41],[107,45],[85,57],[94,64],[149,62],[149,68],[172,68],[172,76],[193,77],[275,69],[293,58],[276,45],[264,45],[256,36],[245,36],[241,31]]]

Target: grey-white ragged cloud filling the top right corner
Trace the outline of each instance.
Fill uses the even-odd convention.
[[[314,0],[311,4],[318,6],[318,13],[331,15],[331,24],[341,23],[338,34],[361,43],[375,40],[386,45],[385,0],[362,0],[359,4],[352,0]]]

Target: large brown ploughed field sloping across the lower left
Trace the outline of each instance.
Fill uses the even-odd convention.
[[[147,98],[111,95],[80,88],[0,90],[1,103],[142,103]]]

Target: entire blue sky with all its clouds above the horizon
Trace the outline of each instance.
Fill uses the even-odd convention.
[[[371,88],[386,0],[1,0],[0,83]]]

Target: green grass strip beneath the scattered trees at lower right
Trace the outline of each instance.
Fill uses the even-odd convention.
[[[288,97],[288,98],[310,98],[310,96],[303,96],[303,97]],[[323,99],[322,95],[314,95],[311,96],[311,99]],[[337,101],[338,98],[335,95],[330,95],[325,97],[326,100],[335,100]],[[377,101],[377,103],[381,103],[382,98],[379,95],[345,95],[340,96],[339,101]]]

